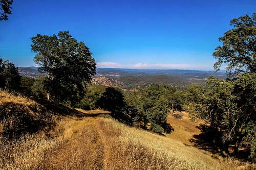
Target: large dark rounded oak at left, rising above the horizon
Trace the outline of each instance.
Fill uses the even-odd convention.
[[[77,42],[68,31],[58,35],[32,37],[34,61],[38,70],[47,75],[48,100],[75,104],[82,99],[86,84],[96,73],[96,63],[89,48]]]

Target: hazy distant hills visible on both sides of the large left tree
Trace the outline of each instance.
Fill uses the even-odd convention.
[[[21,76],[36,78],[38,67],[19,67]],[[226,78],[225,71],[204,71],[189,69],[127,69],[127,68],[97,68],[93,83],[105,86],[134,88],[152,83],[172,84],[184,88],[189,84],[202,84],[209,76]]]

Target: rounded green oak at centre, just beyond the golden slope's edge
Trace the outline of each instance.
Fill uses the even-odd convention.
[[[172,106],[169,95],[173,91],[172,86],[154,84],[136,93],[126,93],[126,112],[131,117],[132,125],[156,133],[172,131],[167,124],[167,115]]]

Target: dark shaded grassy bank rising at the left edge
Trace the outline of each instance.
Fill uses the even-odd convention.
[[[25,133],[48,131],[60,114],[21,95],[0,90],[0,137],[18,138]]]

